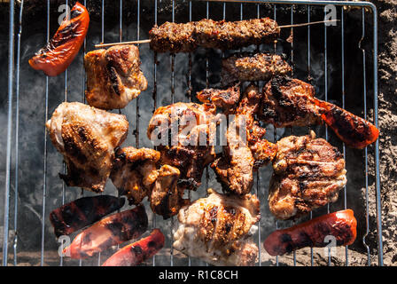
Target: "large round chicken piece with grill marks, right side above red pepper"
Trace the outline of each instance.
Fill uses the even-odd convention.
[[[278,219],[300,217],[338,199],[346,185],[345,160],[338,148],[310,135],[282,138],[273,162],[269,209]]]

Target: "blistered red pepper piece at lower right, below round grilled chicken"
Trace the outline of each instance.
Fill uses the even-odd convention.
[[[270,256],[282,256],[299,248],[323,248],[329,243],[325,242],[328,235],[335,237],[338,246],[351,245],[357,235],[356,227],[353,210],[341,210],[270,233],[263,247]]]

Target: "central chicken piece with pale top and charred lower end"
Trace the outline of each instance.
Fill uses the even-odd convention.
[[[212,105],[179,102],[159,107],[149,122],[147,136],[158,146],[160,162],[180,170],[180,186],[195,189],[214,161],[214,114]]]

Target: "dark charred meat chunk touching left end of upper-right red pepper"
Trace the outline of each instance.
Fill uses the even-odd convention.
[[[315,88],[298,79],[276,76],[263,87],[259,118],[276,127],[321,123],[322,108],[313,103]]]

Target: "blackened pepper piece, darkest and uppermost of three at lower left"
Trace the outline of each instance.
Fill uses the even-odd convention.
[[[57,238],[91,225],[102,217],[121,209],[124,198],[111,195],[82,197],[51,211],[50,221]]]

